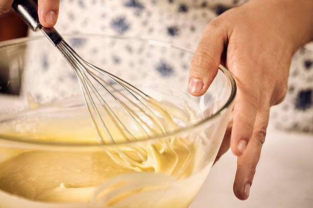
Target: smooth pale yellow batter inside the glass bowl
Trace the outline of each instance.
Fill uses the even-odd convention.
[[[194,113],[186,113],[166,103],[162,108],[173,117],[180,115],[181,121],[187,123],[195,118]],[[40,116],[24,115],[27,116],[0,126],[1,134],[36,141],[99,143],[84,107],[41,113]],[[160,119],[167,131],[176,127],[171,116]],[[142,135],[138,133],[137,136]],[[153,200],[158,201],[153,204],[160,204],[155,207],[173,207],[170,204],[177,195],[186,195],[179,203],[175,199],[174,204],[187,207],[202,183],[203,177],[190,179],[198,171],[195,161],[199,160],[202,151],[199,139],[187,137],[140,141],[97,151],[0,148],[0,190],[28,200],[100,201],[106,204],[104,207],[137,207],[136,204],[151,207],[147,204]],[[182,192],[188,188],[186,185],[189,190]],[[139,200],[141,195],[145,198]],[[122,205],[125,203],[128,205]]]

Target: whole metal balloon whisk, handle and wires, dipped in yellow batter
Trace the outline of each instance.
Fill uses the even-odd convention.
[[[36,1],[15,0],[12,7],[33,31],[40,30],[74,69],[85,106],[102,143],[120,142],[121,138],[135,141],[140,136],[150,137],[166,133],[159,117],[169,118],[168,113],[136,87],[83,60],[54,28],[42,27]],[[112,107],[111,103],[115,105]],[[169,125],[175,128],[174,122]],[[153,148],[156,149],[154,146]],[[146,160],[143,149],[138,148],[135,152],[139,161]],[[124,162],[133,163],[128,155],[120,151],[118,154],[123,156]]]

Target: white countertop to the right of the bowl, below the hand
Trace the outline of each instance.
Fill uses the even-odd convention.
[[[313,135],[268,129],[250,198],[233,194],[236,157],[228,151],[213,166],[189,208],[313,207]]]

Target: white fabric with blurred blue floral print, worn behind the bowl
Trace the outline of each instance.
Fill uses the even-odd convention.
[[[148,38],[173,43],[194,50],[206,24],[226,10],[247,0],[82,0],[61,1],[56,29],[62,34],[100,33]],[[71,39],[70,44],[79,48],[85,43]],[[114,45],[114,42],[111,43]],[[125,47],[127,53],[146,53],[139,48]],[[97,50],[91,48],[91,53]],[[160,51],[162,53],[162,51]],[[173,58],[174,59],[174,58]],[[42,73],[51,66],[51,60],[40,57]],[[139,60],[144,63],[144,59]],[[118,54],[102,58],[102,63],[127,64],[134,60]],[[188,64],[179,66],[188,70]],[[155,72],[166,79],[174,73],[174,65],[166,59],[155,64]],[[75,80],[74,74],[69,74]],[[60,77],[59,82],[64,80]],[[56,83],[51,83],[56,85]],[[57,87],[55,87],[57,88]],[[271,122],[278,128],[298,129],[313,133],[313,49],[302,47],[294,56],[290,67],[288,92],[285,100],[271,110]],[[38,95],[38,97],[40,97]]]

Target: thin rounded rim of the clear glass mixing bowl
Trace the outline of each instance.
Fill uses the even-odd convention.
[[[88,33],[65,34],[65,35],[63,35],[63,37],[68,37],[68,38],[99,37],[99,38],[114,38],[114,39],[120,39],[120,40],[136,40],[136,41],[146,42],[148,45],[155,45],[155,46],[167,47],[167,48],[175,48],[175,49],[183,50],[183,51],[190,53],[190,54],[194,54],[194,51],[192,51],[192,50],[189,50],[189,49],[186,49],[183,47],[179,47],[179,46],[175,46],[171,43],[166,43],[166,42],[151,40],[151,39],[146,39],[146,38],[139,38],[139,37],[125,37],[125,36],[113,36],[113,35],[104,35],[104,34],[88,34]],[[44,38],[45,37],[43,37],[43,36],[30,36],[30,37],[7,40],[7,41],[0,42],[0,49],[14,46],[14,45],[19,45],[19,44],[25,44],[26,42],[30,42],[30,41],[34,41],[34,40],[40,40],[40,39],[44,39]],[[223,65],[220,64],[218,69],[226,75],[226,77],[228,78],[228,80],[230,81],[230,84],[231,84],[231,93],[230,93],[230,96],[229,96],[227,102],[225,103],[225,105],[223,105],[216,113],[214,113],[210,117],[205,118],[199,122],[193,123],[189,126],[178,128],[177,130],[170,132],[168,134],[165,134],[165,135],[156,135],[156,136],[153,136],[150,138],[143,138],[143,139],[140,139],[137,141],[127,141],[127,142],[109,143],[109,144],[108,143],[96,144],[96,143],[82,143],[82,142],[81,143],[79,143],[79,142],[78,143],[69,143],[69,142],[43,142],[43,141],[30,141],[30,140],[24,140],[23,141],[23,140],[21,140],[21,137],[8,137],[8,136],[2,135],[0,133],[0,141],[5,141],[6,146],[10,146],[10,147],[19,147],[20,148],[20,145],[23,145],[23,149],[34,149],[34,147],[37,147],[37,148],[41,147],[44,149],[51,149],[51,150],[62,150],[62,149],[69,150],[69,148],[70,149],[75,148],[75,149],[73,149],[73,151],[77,151],[77,150],[87,150],[87,149],[95,149],[95,148],[99,149],[99,148],[103,148],[103,147],[116,147],[116,146],[125,145],[125,144],[135,144],[138,142],[152,141],[152,140],[158,140],[158,139],[167,139],[170,137],[175,137],[178,134],[182,134],[184,132],[190,131],[190,129],[198,128],[204,124],[207,124],[208,122],[212,122],[213,120],[215,120],[218,117],[225,114],[227,112],[227,110],[232,107],[232,103],[234,102],[236,92],[237,92],[237,85],[236,85],[235,79],[234,79],[232,73]]]

